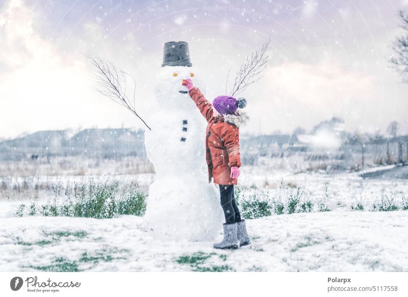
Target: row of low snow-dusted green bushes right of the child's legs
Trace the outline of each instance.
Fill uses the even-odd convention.
[[[268,187],[238,185],[236,199],[243,217],[247,219],[261,218],[271,214],[292,214],[299,212],[325,212],[338,210],[351,211],[396,211],[408,210],[408,198],[399,190],[387,193],[376,189],[372,197],[366,194],[350,193],[351,197],[338,197],[336,187],[331,193],[329,183],[321,184],[321,192],[308,190],[297,183],[284,182],[276,186],[266,180]],[[320,186],[319,186],[320,187]]]

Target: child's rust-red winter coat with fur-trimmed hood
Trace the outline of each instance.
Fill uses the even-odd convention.
[[[237,178],[231,178],[231,167],[240,167],[239,126],[249,119],[243,112],[236,115],[214,117],[213,105],[201,94],[198,88],[189,91],[191,99],[206,118],[206,159],[208,178],[214,178],[217,184],[237,184]]]

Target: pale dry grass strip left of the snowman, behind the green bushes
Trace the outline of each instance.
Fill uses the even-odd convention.
[[[136,157],[123,159],[82,159],[58,157],[45,160],[0,162],[0,199],[27,199],[52,196],[56,185],[74,181],[86,183],[89,177],[137,175],[154,173],[149,161]],[[143,190],[147,185],[142,185]]]

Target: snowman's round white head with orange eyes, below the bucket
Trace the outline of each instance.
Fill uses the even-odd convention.
[[[187,66],[164,66],[160,68],[156,76],[155,87],[159,104],[168,109],[194,107],[186,87],[182,85],[183,79],[190,78],[194,86],[199,87],[201,92],[204,92],[200,75],[197,75],[194,70],[194,67]]]

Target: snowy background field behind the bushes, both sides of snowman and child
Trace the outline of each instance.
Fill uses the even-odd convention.
[[[401,171],[399,169],[399,171]],[[408,166],[403,168],[408,172]],[[239,184],[254,189],[256,193],[264,193],[269,198],[285,197],[299,188],[299,195],[311,201],[320,201],[326,196],[330,209],[342,208],[350,210],[357,204],[364,205],[366,210],[373,203],[387,197],[397,202],[408,203],[408,179],[363,179],[361,173],[298,173],[261,167],[243,167]],[[11,217],[21,203],[29,204],[30,197],[38,197],[46,202],[55,196],[54,187],[62,189],[72,187],[74,183],[87,184],[90,180],[117,180],[126,184],[135,181],[140,190],[147,194],[148,186],[155,181],[154,173],[135,175],[102,175],[102,176],[36,176],[29,178],[0,178],[0,218]],[[25,182],[28,185],[25,185]],[[17,190],[16,190],[17,189]],[[292,191],[293,189],[293,191]],[[408,204],[407,204],[408,206]]]

